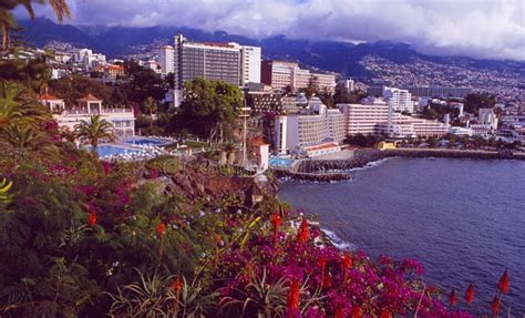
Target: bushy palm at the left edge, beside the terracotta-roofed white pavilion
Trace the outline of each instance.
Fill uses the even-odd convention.
[[[0,126],[12,123],[39,124],[52,121],[50,111],[30,90],[17,82],[0,81]]]

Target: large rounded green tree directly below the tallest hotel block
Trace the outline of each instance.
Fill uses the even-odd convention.
[[[235,122],[241,105],[239,88],[223,81],[196,79],[185,85],[178,120],[191,132],[207,136],[209,143],[218,134],[222,143],[225,126]]]

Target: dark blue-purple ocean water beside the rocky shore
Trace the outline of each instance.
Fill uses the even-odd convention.
[[[342,248],[372,258],[414,258],[424,279],[459,297],[475,288],[471,312],[490,314],[505,268],[506,312],[525,315],[525,162],[389,158],[338,183],[284,182],[281,199],[318,214]],[[460,301],[461,302],[461,301]]]

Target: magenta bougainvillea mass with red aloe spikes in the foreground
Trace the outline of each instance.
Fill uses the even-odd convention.
[[[257,299],[253,280],[264,276],[269,286],[286,281],[287,304],[282,306],[288,317],[395,317],[416,311],[421,317],[470,317],[447,309],[437,288],[423,284],[423,268],[418,261],[388,257],[372,261],[363,252],[340,252],[328,243],[318,245],[319,232],[306,219],[296,235],[276,234],[276,225],[280,225],[276,219],[274,215],[271,230],[253,236],[246,248],[233,246],[224,255],[223,277],[234,278],[222,289],[223,302]],[[249,268],[249,273],[238,268]],[[266,309],[254,305],[244,310],[253,311],[246,316],[256,316]]]

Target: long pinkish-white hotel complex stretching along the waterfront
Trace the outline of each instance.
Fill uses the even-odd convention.
[[[308,154],[336,150],[347,135],[373,134],[391,139],[416,136],[442,136],[450,125],[439,121],[403,115],[381,99],[364,100],[363,104],[338,104],[337,110],[327,110],[320,102],[309,103],[309,112],[281,115],[275,120],[275,145],[280,154]]]

